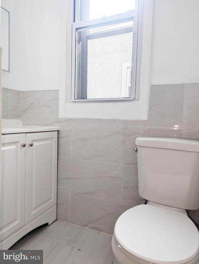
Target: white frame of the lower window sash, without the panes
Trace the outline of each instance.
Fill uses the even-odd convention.
[[[131,96],[130,98],[96,98],[96,99],[76,99],[76,38],[77,30],[101,27],[107,24],[118,24],[124,20],[133,19],[133,49],[132,49],[132,74],[131,74]],[[72,89],[71,101],[116,101],[116,100],[137,100],[136,98],[136,64],[137,64],[137,31],[138,31],[138,9],[127,11],[126,13],[103,17],[95,20],[86,20],[72,23]]]

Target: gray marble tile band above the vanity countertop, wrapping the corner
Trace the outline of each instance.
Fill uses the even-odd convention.
[[[19,92],[2,88],[2,118],[58,124],[58,100],[58,90]]]

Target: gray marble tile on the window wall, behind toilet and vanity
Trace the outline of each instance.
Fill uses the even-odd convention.
[[[50,92],[50,93],[49,93]],[[57,92],[21,92],[24,125],[58,124],[58,220],[112,234],[138,194],[138,136],[199,140],[199,84],[154,85],[147,121],[58,120]],[[38,102],[37,102],[38,101]],[[190,211],[199,222],[199,211]]]

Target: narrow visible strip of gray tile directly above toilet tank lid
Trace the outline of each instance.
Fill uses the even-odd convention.
[[[142,127],[141,136],[199,140],[199,129]]]

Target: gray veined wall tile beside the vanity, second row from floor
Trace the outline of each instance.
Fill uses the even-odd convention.
[[[59,158],[58,190],[121,203],[122,165]]]

